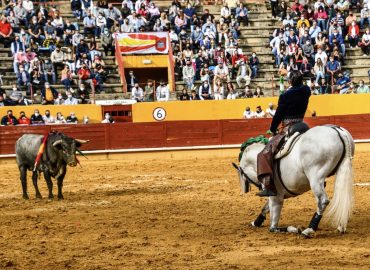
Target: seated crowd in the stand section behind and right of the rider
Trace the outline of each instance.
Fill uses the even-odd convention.
[[[363,80],[356,86],[343,70],[348,47],[361,47],[363,59],[369,60],[369,0],[270,2],[273,18],[281,22],[270,38],[281,78],[299,70],[314,94],[369,93]]]

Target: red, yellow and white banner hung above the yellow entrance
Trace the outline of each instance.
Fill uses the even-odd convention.
[[[167,32],[120,33],[116,37],[122,54],[168,54]]]

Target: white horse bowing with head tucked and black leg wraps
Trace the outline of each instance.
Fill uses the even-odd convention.
[[[248,192],[249,184],[259,186],[257,180],[257,154],[264,148],[261,143],[248,146],[238,169],[242,192]],[[279,228],[281,209],[285,198],[295,197],[312,190],[317,211],[302,234],[312,236],[317,230],[326,206],[325,179],[336,174],[334,196],[326,213],[333,225],[342,233],[346,231],[353,208],[352,157],[354,141],[350,133],[341,127],[317,126],[304,133],[291,152],[274,165],[274,181],[277,196],[269,197],[260,215],[252,222],[259,227],[270,211],[270,231],[297,233],[297,228]]]

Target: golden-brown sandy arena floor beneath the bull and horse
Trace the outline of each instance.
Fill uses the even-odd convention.
[[[30,179],[23,200],[15,164],[1,165],[0,269],[370,268],[370,186],[355,186],[347,234],[322,223],[304,239],[249,225],[264,200],[239,195],[233,157],[81,161],[64,201],[36,200]],[[356,155],[356,183],[370,182],[369,163]],[[314,211],[311,193],[287,200],[280,225],[306,226]]]

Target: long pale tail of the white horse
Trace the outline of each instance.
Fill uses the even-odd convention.
[[[351,134],[342,128],[336,128],[344,145],[344,158],[335,176],[334,196],[329,204],[327,217],[340,231],[345,232],[353,209],[353,171],[352,157],[354,141]]]

